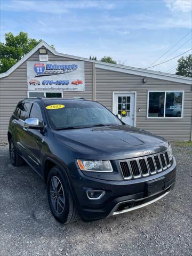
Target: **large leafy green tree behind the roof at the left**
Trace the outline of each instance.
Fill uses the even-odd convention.
[[[17,36],[11,32],[6,33],[5,43],[0,42],[0,73],[10,69],[41,41],[30,38],[22,31]],[[51,47],[54,49],[53,45]]]

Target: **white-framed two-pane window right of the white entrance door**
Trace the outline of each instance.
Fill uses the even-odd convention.
[[[148,117],[182,117],[182,100],[181,91],[149,92]]]

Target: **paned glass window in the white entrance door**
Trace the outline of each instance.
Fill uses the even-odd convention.
[[[122,117],[130,116],[130,96],[118,96],[118,114]]]

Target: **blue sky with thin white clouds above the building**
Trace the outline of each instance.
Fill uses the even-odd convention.
[[[5,33],[25,31],[60,53],[94,55],[97,60],[109,55],[137,68],[192,48],[192,0],[0,0],[0,4],[1,42]],[[179,58],[150,69],[174,74]]]

